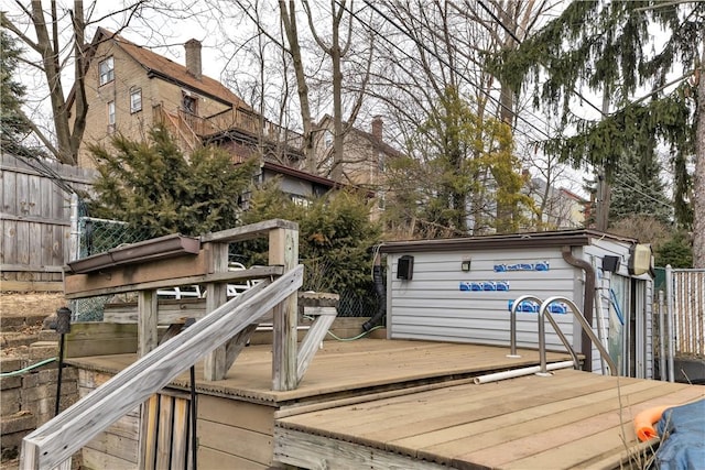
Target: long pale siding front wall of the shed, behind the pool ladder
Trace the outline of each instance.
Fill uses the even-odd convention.
[[[409,253],[412,254],[412,253]],[[521,295],[546,298],[566,296],[575,298],[576,282],[582,273],[567,264],[557,249],[492,250],[475,252],[413,253],[414,270],[411,281],[397,278],[401,254],[388,258],[389,281],[389,335],[392,339],[424,339],[433,341],[473,342],[482,345],[509,345],[509,302]],[[463,272],[460,264],[470,259],[470,271]],[[546,271],[500,271],[495,266],[517,263],[547,265]],[[465,291],[462,285],[500,282],[507,291]],[[582,289],[581,289],[582,292]],[[573,341],[571,315],[555,315],[570,341]],[[517,343],[519,347],[538,346],[536,315],[517,315]],[[563,350],[558,337],[546,328],[549,349]]]

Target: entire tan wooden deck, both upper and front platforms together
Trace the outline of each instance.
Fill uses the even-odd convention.
[[[258,436],[271,447],[251,458],[262,462],[252,468],[283,462],[315,469],[618,468],[630,451],[643,448],[631,425],[636,413],[705,396],[705,386],[573,370],[473,383],[487,372],[539,363],[538,351],[519,350],[521,359],[508,359],[508,352],[426,341],[325,341],[297,390],[272,391],[271,346],[252,346],[225,380],[197,380],[197,391],[199,403],[210,395],[226,400],[218,406],[249,403],[269,409],[261,414]],[[69,362],[111,374],[135,359],[119,354]],[[547,357],[549,362],[568,359]],[[196,378],[202,378],[198,369]],[[187,389],[187,373],[170,386]],[[203,404],[208,407],[208,401]],[[218,414],[215,408],[208,413]],[[217,416],[202,417],[199,409],[199,466],[209,455],[223,459],[232,446],[224,438],[229,423],[204,420],[202,426],[202,418]],[[210,428],[218,433],[200,436]]]

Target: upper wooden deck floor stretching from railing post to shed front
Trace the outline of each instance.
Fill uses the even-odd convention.
[[[538,351],[518,352],[520,359],[508,359],[509,348],[477,345],[381,339],[324,341],[299,389],[272,391],[272,347],[251,346],[245,348],[225,380],[200,380],[203,364],[196,364],[196,383],[197,391],[203,393],[237,396],[276,407],[301,406],[361,392],[405,390],[539,363]],[[137,354],[112,354],[72,358],[67,362],[80,369],[117,373],[137,359]],[[547,356],[549,362],[570,359],[567,353]],[[172,385],[187,389],[188,373],[180,375]]]

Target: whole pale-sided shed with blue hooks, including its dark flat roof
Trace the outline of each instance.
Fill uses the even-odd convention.
[[[542,299],[563,296],[581,307],[584,305],[586,272],[564,259],[562,250],[566,247],[574,258],[593,266],[596,288],[589,300],[599,302],[600,308],[594,308],[594,313],[586,316],[593,317],[593,325],[597,327],[597,316],[601,313],[604,331],[609,335],[609,319],[616,318],[610,286],[612,280],[620,280],[620,285],[628,287],[622,295],[632,298],[628,262],[636,243],[633,239],[592,230],[384,243],[381,252],[387,254],[388,336],[391,339],[509,347],[509,303],[519,296],[531,294]],[[617,271],[601,270],[606,255],[619,258]],[[402,256],[413,256],[411,280],[398,277]],[[464,264],[467,267],[468,262],[469,270],[466,271]],[[630,307],[628,316],[636,317],[633,320],[640,332],[638,338],[628,340],[639,345],[633,354],[634,374],[651,376],[652,282],[649,275],[639,280],[646,281],[634,284],[641,286],[644,300],[636,305],[640,311],[632,311]],[[555,314],[554,318],[574,349],[585,353],[581,327],[573,314]],[[518,314],[519,347],[538,347],[536,320],[535,313]],[[564,350],[549,324],[545,331],[547,349]],[[601,365],[597,349],[593,347],[589,356],[590,369],[599,372]]]

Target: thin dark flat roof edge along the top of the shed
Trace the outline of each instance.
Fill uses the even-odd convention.
[[[608,239],[634,244],[638,240],[597,230],[560,230],[546,232],[527,232],[492,234],[480,237],[464,237],[435,240],[409,240],[386,242],[380,248],[382,253],[409,253],[429,251],[457,250],[508,250],[516,248],[551,248],[551,247],[585,247],[593,239]]]

